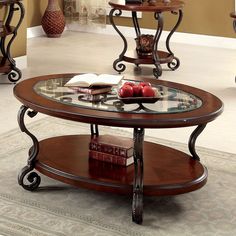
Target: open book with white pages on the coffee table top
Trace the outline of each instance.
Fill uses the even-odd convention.
[[[65,86],[78,86],[78,87],[105,87],[114,86],[119,84],[123,75],[109,75],[109,74],[80,74],[71,78]]]

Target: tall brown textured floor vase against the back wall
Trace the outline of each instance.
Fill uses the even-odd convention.
[[[58,38],[61,36],[65,28],[65,18],[59,7],[58,0],[48,0],[41,24],[48,37]]]

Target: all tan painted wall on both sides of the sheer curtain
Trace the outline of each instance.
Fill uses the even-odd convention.
[[[62,6],[63,0],[58,0]],[[19,28],[17,37],[12,45],[12,56],[26,55],[26,30],[28,27],[41,24],[41,18],[48,0],[23,0],[26,15]],[[222,37],[236,37],[233,31],[232,19],[229,13],[234,10],[234,0],[185,0],[184,18],[178,29],[179,32],[205,34]],[[1,15],[4,9],[0,9]],[[14,20],[17,19],[17,13]],[[175,16],[165,14],[165,29],[169,30],[175,22]],[[127,18],[119,19],[118,24],[131,25]],[[144,13],[140,27],[156,28],[153,15]]]

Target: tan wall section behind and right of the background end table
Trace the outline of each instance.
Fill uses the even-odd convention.
[[[233,31],[230,12],[234,11],[234,0],[183,0],[183,20],[179,32],[204,34],[221,37],[236,37]],[[164,14],[164,28],[170,30],[176,22],[176,16]],[[132,22],[127,18],[117,19],[119,25],[130,26]],[[140,27],[156,28],[153,14],[143,13]]]

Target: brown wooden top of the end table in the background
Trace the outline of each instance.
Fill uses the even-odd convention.
[[[179,0],[171,0],[170,3],[163,3],[162,1],[156,1],[151,5],[147,1],[142,4],[125,4],[125,0],[111,0],[109,5],[115,9],[126,11],[141,11],[141,12],[164,12],[174,11],[183,8],[184,2]]]

